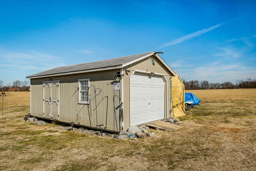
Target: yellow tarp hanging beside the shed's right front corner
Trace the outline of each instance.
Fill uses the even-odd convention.
[[[185,86],[175,74],[172,77],[172,117],[180,117],[185,115]]]

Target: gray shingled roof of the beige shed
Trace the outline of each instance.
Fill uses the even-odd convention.
[[[112,58],[112,59],[96,61],[96,62],[88,62],[84,64],[62,66],[62,67],[53,68],[44,72],[40,72],[37,74],[33,74],[31,76],[27,76],[26,78],[37,77],[37,76],[48,76],[53,74],[63,74],[63,73],[70,73],[70,72],[71,72],[70,74],[72,74],[72,72],[79,72],[79,71],[86,71],[86,70],[93,70],[93,69],[100,69],[100,68],[118,67],[118,66],[122,66],[122,64],[126,64],[128,62],[131,62],[133,60],[146,56],[152,52],[146,52],[142,54],[124,56],[119,58]]]

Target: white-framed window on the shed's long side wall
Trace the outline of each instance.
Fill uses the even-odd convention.
[[[90,79],[79,79],[78,80],[78,103],[89,103],[89,80]]]

